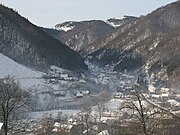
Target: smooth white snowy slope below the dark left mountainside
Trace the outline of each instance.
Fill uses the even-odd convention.
[[[20,85],[25,88],[43,83],[38,79],[43,73],[24,67],[0,53],[0,78],[8,75],[18,80]]]

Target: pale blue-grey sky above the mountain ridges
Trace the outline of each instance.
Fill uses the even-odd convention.
[[[32,23],[53,27],[65,21],[146,15],[175,0],[0,0]]]

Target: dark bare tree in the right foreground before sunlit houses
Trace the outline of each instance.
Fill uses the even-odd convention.
[[[136,127],[139,125],[136,129],[139,129],[143,135],[155,134],[160,127],[162,117],[165,115],[161,109],[150,105],[140,90],[136,88],[132,93],[132,98],[124,102],[120,109],[131,111]]]

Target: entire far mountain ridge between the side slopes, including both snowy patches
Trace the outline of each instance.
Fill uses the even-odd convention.
[[[55,29],[43,30],[85,56],[87,52],[84,50],[92,43],[114,31],[116,27],[136,19],[138,18],[133,16],[123,16],[107,20],[69,21],[55,25]]]

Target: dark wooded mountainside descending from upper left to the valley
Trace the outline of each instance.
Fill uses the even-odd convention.
[[[39,71],[47,71],[51,65],[87,69],[76,52],[3,5],[0,5],[0,31],[0,53],[20,64]]]

